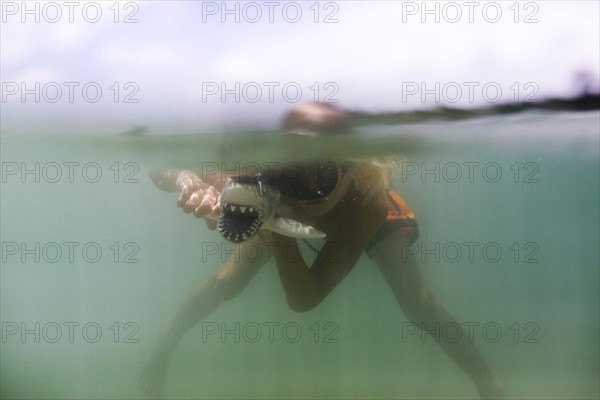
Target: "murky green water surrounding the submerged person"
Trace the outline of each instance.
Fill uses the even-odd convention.
[[[598,132],[594,112],[363,127],[345,145],[310,148],[260,134],[4,134],[2,397],[142,397],[159,333],[231,248],[207,256],[224,242],[156,189],[150,169],[391,151],[405,157],[393,187],[419,223],[421,272],[473,326],[509,397],[598,398]],[[409,328],[366,256],[304,314],[288,309],[268,264],[184,338],[165,397],[475,398],[435,339]]]

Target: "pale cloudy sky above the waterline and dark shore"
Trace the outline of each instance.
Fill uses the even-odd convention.
[[[1,1],[1,129],[274,128],[295,104],[481,107],[597,89],[598,1]],[[577,78],[577,77],[580,78]]]

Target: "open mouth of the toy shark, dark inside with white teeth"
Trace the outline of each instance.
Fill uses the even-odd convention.
[[[219,232],[234,243],[241,243],[252,238],[265,219],[263,210],[250,206],[232,203],[221,205]]]

